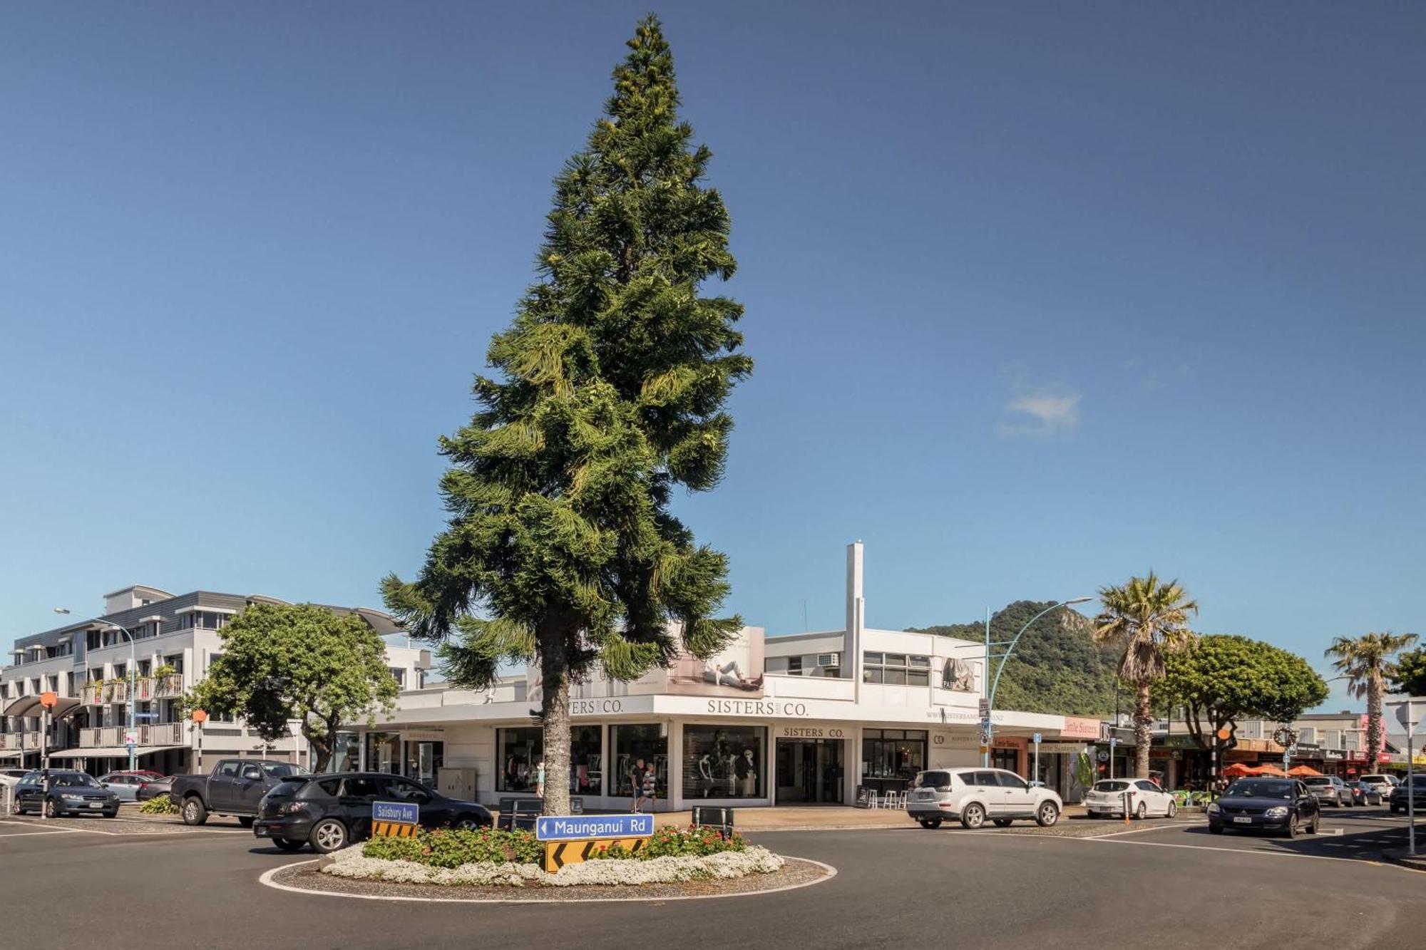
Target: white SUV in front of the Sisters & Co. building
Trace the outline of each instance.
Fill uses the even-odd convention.
[[[907,814],[921,827],[940,827],[948,817],[971,829],[985,819],[1000,827],[1015,819],[1050,827],[1062,809],[1058,795],[1004,769],[927,769],[917,773],[906,799]]]

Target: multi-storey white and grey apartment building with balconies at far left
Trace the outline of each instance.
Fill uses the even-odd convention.
[[[0,668],[0,712],[20,708],[29,715],[0,715],[0,762],[39,766],[41,719],[37,709],[27,709],[33,702],[17,700],[53,692],[77,702],[61,703],[67,709],[50,725],[44,745],[51,767],[91,773],[127,769],[125,739],[134,740],[140,769],[164,775],[193,770],[200,743],[210,762],[222,755],[262,755],[305,763],[307,743],[295,722],[289,736],[265,743],[231,716],[212,716],[201,736],[183,716],[183,695],[222,653],[222,628],[260,602],[282,603],[261,595],[173,595],[134,585],[106,593],[103,612],[94,619],[76,616],[64,626],[19,638],[10,665]],[[382,638],[401,635],[381,611],[332,609],[355,613]],[[133,646],[118,628],[128,630]],[[386,656],[402,689],[425,685],[429,650],[388,643]],[[127,735],[131,673],[135,725]]]

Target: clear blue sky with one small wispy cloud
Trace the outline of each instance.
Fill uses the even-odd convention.
[[[0,7],[0,642],[412,573],[649,6]],[[656,9],[757,359],[679,502],[730,611],[840,628],[860,538],[873,626],[1154,568],[1426,633],[1426,7]]]

